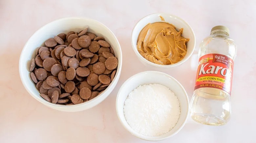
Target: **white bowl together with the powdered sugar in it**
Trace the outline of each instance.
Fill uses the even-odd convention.
[[[189,113],[185,89],[172,76],[159,71],[133,75],[119,89],[117,116],[132,135],[149,141],[177,134]]]

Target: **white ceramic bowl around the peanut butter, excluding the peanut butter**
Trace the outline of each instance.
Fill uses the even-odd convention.
[[[165,22],[173,24],[176,27],[176,30],[180,30],[180,28],[183,28],[182,36],[190,39],[186,44],[187,53],[184,56],[184,58],[181,61],[172,65],[159,65],[159,64],[152,63],[147,59],[145,59],[143,56],[141,56],[137,49],[137,41],[138,41],[138,36],[140,31],[149,23],[163,22],[161,21],[160,16],[164,18]],[[178,16],[175,16],[169,13],[154,13],[154,14],[145,16],[134,26],[132,31],[133,50],[137,55],[137,57],[139,58],[139,60],[145,65],[150,65],[150,66],[155,66],[160,68],[170,68],[170,67],[181,65],[193,54],[195,45],[196,45],[196,38],[195,38],[194,31],[190,27],[190,25],[187,22],[185,22],[183,19],[179,18]]]

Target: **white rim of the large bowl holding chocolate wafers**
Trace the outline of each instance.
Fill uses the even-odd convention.
[[[118,76],[115,76],[115,78],[114,78],[114,80],[113,80],[113,81],[116,81],[115,85],[112,84],[113,82],[111,82],[111,84],[110,84],[110,86],[113,85],[113,89],[114,89],[114,88],[116,87],[116,85],[117,85],[117,82],[118,82],[119,77],[120,77],[121,69],[122,69],[122,51],[121,51],[120,43],[119,43],[119,41],[118,41],[116,35],[115,35],[106,25],[102,24],[101,22],[99,22],[99,21],[97,21],[97,20],[94,20],[94,19],[91,19],[91,18],[87,18],[87,17],[63,17],[63,18],[59,18],[59,19],[50,21],[50,22],[44,24],[43,26],[41,26],[39,29],[37,29],[37,30],[30,36],[30,38],[27,40],[27,42],[25,43],[25,45],[24,45],[23,48],[22,48],[22,51],[21,51],[21,54],[20,54],[20,57],[19,57],[19,76],[20,76],[21,82],[22,82],[22,84],[23,84],[23,87],[25,87],[25,89],[27,90],[27,92],[28,92],[34,99],[36,99],[36,100],[39,101],[40,103],[42,103],[42,104],[44,104],[44,105],[46,105],[46,106],[48,106],[48,107],[51,107],[51,108],[53,108],[53,109],[55,109],[55,110],[58,110],[58,109],[56,109],[56,108],[62,109],[62,110],[59,110],[59,111],[64,111],[64,112],[78,112],[78,111],[83,111],[83,110],[87,110],[87,109],[93,108],[93,107],[96,106],[97,104],[99,104],[99,103],[101,103],[102,101],[104,101],[109,95],[107,95],[106,97],[104,97],[104,99],[102,99],[102,101],[100,101],[100,102],[98,102],[98,103],[96,103],[96,104],[93,104],[93,106],[91,106],[91,107],[87,107],[87,108],[83,108],[83,109],[75,110],[75,111],[65,111],[65,109],[70,109],[70,108],[77,109],[77,108],[79,108],[79,107],[85,106],[86,103],[95,102],[96,99],[99,99],[99,96],[97,96],[98,98],[95,97],[95,98],[92,99],[91,101],[87,101],[87,102],[80,103],[80,104],[75,104],[75,105],[68,105],[68,106],[67,106],[67,105],[58,105],[58,104],[49,103],[49,102],[47,102],[46,100],[42,99],[40,96],[34,95],[34,94],[30,91],[30,87],[27,87],[27,86],[26,86],[26,84],[25,84],[25,76],[22,76],[22,74],[21,74],[21,73],[22,73],[22,68],[23,68],[23,67],[22,67],[22,61],[21,61],[21,59],[22,59],[23,56],[24,56],[24,52],[25,52],[26,47],[28,46],[28,43],[30,42],[30,40],[32,39],[32,37],[33,37],[34,35],[36,35],[41,29],[43,29],[43,28],[46,27],[47,25],[50,25],[50,24],[52,24],[52,23],[54,23],[54,22],[58,22],[58,21],[62,21],[62,20],[72,20],[72,19],[84,19],[84,20],[93,21],[93,22],[95,22],[95,23],[98,23],[98,24],[100,24],[101,26],[103,26],[104,28],[106,28],[106,30],[109,31],[109,32],[113,35],[114,39],[117,41],[117,45],[118,45],[117,47],[118,47],[119,53],[120,53],[120,55],[119,55],[119,57],[118,57],[118,65],[119,65],[119,63],[120,63],[120,65],[117,67],[117,70],[118,70],[117,73],[118,73],[119,75],[116,73],[116,75],[118,75]],[[30,72],[30,71],[29,71],[29,72]],[[107,88],[106,88],[106,89],[107,89]],[[110,93],[113,91],[113,89],[110,91]],[[106,93],[106,90],[104,90],[101,94],[103,95],[104,93]],[[110,93],[109,93],[109,94],[110,94]]]

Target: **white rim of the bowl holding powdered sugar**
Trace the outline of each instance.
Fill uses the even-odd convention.
[[[171,134],[171,135],[167,135],[167,136],[164,136],[164,137],[159,137],[159,138],[154,138],[154,139],[149,139],[149,138],[145,138],[145,137],[143,137],[143,136],[139,136],[140,134],[138,133],[138,132],[136,132],[136,131],[134,131],[130,126],[129,126],[129,124],[127,123],[127,121],[126,120],[122,120],[121,118],[120,118],[120,115],[118,114],[118,101],[119,101],[119,98],[122,96],[121,95],[121,90],[123,90],[123,88],[125,88],[125,86],[133,79],[133,78],[135,78],[135,77],[137,77],[137,76],[139,76],[139,75],[141,75],[141,74],[144,74],[144,73],[149,73],[149,72],[151,72],[151,73],[158,73],[158,74],[161,74],[161,75],[164,75],[164,76],[167,76],[167,77],[169,77],[169,78],[171,78],[172,80],[174,80],[175,82],[176,82],[176,84],[178,84],[181,88],[182,88],[182,91],[184,92],[184,95],[185,95],[185,98],[186,98],[186,104],[187,104],[187,113],[186,113],[186,117],[185,117],[185,119],[184,119],[184,121],[183,121],[183,123],[181,124],[181,126],[173,133],[173,134]],[[127,95],[127,97],[128,97],[128,95]],[[127,98],[126,97],[126,98]],[[181,103],[181,102],[180,102]],[[140,138],[140,139],[143,139],[143,140],[147,140],[147,141],[160,141],[160,140],[164,140],[164,139],[167,139],[167,138],[169,138],[169,137],[172,137],[173,135],[176,135],[178,132],[180,132],[180,130],[184,127],[184,125],[186,124],[186,122],[187,122],[187,119],[188,119],[188,116],[189,116],[189,99],[188,99],[188,95],[187,95],[187,92],[186,92],[186,90],[185,90],[185,88],[181,85],[181,83],[177,80],[177,79],[175,79],[174,77],[172,77],[171,75],[169,75],[169,74],[167,74],[167,73],[164,73],[164,72],[161,72],[161,71],[142,71],[142,72],[139,72],[139,73],[136,73],[136,74],[134,74],[133,76],[131,76],[130,78],[128,78],[123,84],[122,84],[122,86],[119,88],[119,90],[118,90],[118,92],[117,92],[117,99],[116,99],[116,113],[117,113],[117,117],[118,117],[118,119],[119,119],[119,121],[120,121],[120,123],[122,124],[122,126],[130,133],[130,134],[132,134],[132,135],[134,135],[134,136],[136,136],[136,137],[138,137],[138,138]],[[125,123],[124,122],[126,122],[127,123],[127,125],[125,125]],[[151,137],[151,136],[149,136],[149,137]],[[155,137],[157,137],[157,136],[155,136]]]

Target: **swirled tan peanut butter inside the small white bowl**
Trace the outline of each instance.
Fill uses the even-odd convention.
[[[165,22],[147,24],[139,33],[137,49],[145,59],[160,65],[170,65],[187,53],[188,38],[181,36],[175,26]]]

